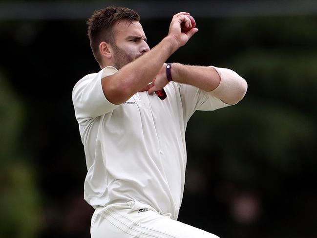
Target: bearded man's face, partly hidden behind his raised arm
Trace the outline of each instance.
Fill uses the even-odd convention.
[[[112,64],[120,69],[149,51],[147,38],[138,21],[121,21],[114,26],[115,45]]]

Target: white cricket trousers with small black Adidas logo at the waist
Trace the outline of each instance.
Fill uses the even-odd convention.
[[[138,201],[97,208],[90,233],[91,238],[218,238]]]

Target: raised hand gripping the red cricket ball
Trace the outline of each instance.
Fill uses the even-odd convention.
[[[197,28],[192,28],[189,31],[182,32],[181,24],[185,22],[186,27],[191,27],[191,21],[187,17],[190,15],[188,12],[180,12],[173,16],[172,21],[169,25],[169,35],[168,37],[172,37],[176,40],[177,46],[185,45],[190,37],[192,37],[197,31]]]

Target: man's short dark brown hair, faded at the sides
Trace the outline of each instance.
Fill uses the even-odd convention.
[[[94,11],[88,19],[88,37],[90,47],[95,59],[102,65],[102,58],[99,54],[99,44],[106,42],[111,45],[115,44],[113,26],[122,20],[140,21],[140,16],[136,11],[127,7],[109,6],[100,10]]]

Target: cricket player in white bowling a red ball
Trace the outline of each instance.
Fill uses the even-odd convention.
[[[195,110],[239,102],[247,83],[226,68],[166,63],[198,32],[189,13],[174,15],[152,49],[139,21],[137,12],[111,6],[87,22],[101,70],[82,78],[72,98],[87,164],[84,196],[95,208],[91,237],[217,238],[177,221],[185,130]]]

